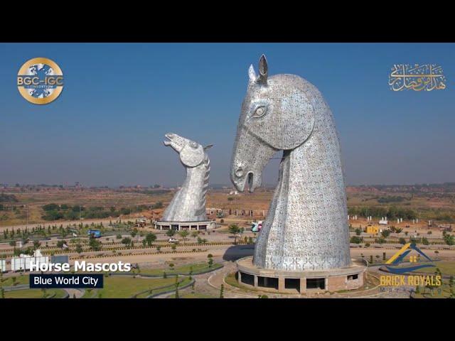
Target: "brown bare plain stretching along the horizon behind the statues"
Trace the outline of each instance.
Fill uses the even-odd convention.
[[[0,195],[6,195],[0,200],[0,227],[25,225],[45,222],[46,224],[64,222],[44,220],[43,205],[81,205],[82,207],[104,207],[119,209],[134,208],[146,205],[148,209],[139,210],[132,215],[122,215],[123,219],[145,216],[159,218],[164,208],[173,197],[176,189],[109,189],[109,188],[40,188],[6,187],[0,188]],[[435,224],[455,223],[455,186],[356,186],[347,188],[349,210],[383,209],[391,207],[395,210],[406,211],[418,218],[422,224],[433,220]],[[255,193],[232,193],[232,189],[210,189],[207,196],[208,209],[238,210],[239,215],[249,210],[255,211],[255,216],[262,213],[267,215],[269,203],[272,200],[273,189],[258,188]],[[13,199],[11,199],[11,196]],[[0,198],[1,199],[1,198]],[[161,208],[152,208],[162,203]],[[359,218],[361,215],[359,215]],[[392,219],[390,219],[392,221]],[[406,218],[405,218],[406,220]],[[408,219],[408,221],[412,218]]]

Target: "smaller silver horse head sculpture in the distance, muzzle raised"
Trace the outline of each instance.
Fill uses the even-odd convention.
[[[177,134],[165,135],[164,146],[171,146],[180,155],[186,168],[186,180],[163,215],[164,222],[200,222],[205,215],[205,195],[208,190],[210,160],[205,151],[213,145],[201,146]]]

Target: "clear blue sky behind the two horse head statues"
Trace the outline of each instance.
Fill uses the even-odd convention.
[[[336,119],[348,184],[455,181],[455,44],[21,43],[0,44],[0,183],[177,185],[166,132],[210,149],[211,183],[229,163],[247,69],[265,53],[269,74],[319,87]],[[36,105],[16,75],[31,58],[54,60],[65,87]],[[441,65],[445,90],[393,92],[393,64]],[[264,183],[277,180],[269,162]]]

